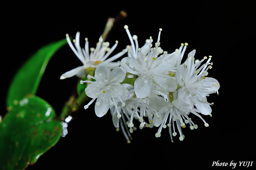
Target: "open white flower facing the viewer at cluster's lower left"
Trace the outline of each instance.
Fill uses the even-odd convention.
[[[93,98],[84,108],[88,108],[97,99],[95,113],[98,117],[104,116],[112,106],[115,106],[118,117],[121,117],[118,110],[118,102],[121,102],[124,107],[124,101],[129,98],[129,91],[120,84],[125,79],[125,76],[126,72],[121,67],[110,71],[109,65],[99,64],[95,70],[94,77],[90,75],[87,77],[88,79],[95,79],[95,82],[89,80],[80,81],[81,84],[90,83],[85,88],[85,93],[88,97]]]

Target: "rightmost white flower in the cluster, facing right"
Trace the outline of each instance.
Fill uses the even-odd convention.
[[[209,56],[207,62],[199,67],[207,57],[195,63],[195,52],[196,50],[190,52],[186,62],[177,69],[176,78],[181,86],[178,96],[188,105],[195,105],[200,113],[209,115],[212,111],[210,108],[212,104],[207,102],[206,97],[211,93],[218,93],[220,84],[216,79],[206,77],[207,70],[212,68],[212,63],[210,63],[212,56]]]

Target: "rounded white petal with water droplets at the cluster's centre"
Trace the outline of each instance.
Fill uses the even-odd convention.
[[[153,82],[146,76],[139,76],[134,82],[135,94],[138,98],[146,98],[151,93]]]

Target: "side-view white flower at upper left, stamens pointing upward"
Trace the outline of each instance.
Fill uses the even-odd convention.
[[[115,45],[112,48],[109,48],[109,42],[103,42],[102,37],[100,37],[96,48],[90,48],[91,53],[89,54],[89,42],[87,38],[85,38],[85,48],[80,47],[80,32],[77,32],[75,40],[73,40],[75,47],[72,45],[68,34],[66,34],[66,39],[69,46],[74,51],[75,55],[83,63],[83,66],[79,66],[77,68],[74,68],[73,70],[62,74],[60,79],[66,79],[75,75],[80,78],[84,78],[85,69],[89,67],[96,68],[99,63],[108,63],[110,64],[110,68],[118,67],[120,65],[120,62],[113,61],[123,56],[123,54],[127,52],[127,49],[124,49],[120,53],[108,58],[113,50],[116,48],[118,41],[116,40]]]

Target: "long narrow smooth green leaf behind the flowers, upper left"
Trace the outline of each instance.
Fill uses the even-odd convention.
[[[6,100],[7,106],[14,106],[27,94],[36,94],[47,63],[53,54],[66,43],[66,39],[50,43],[39,49],[25,62],[10,84]]]

